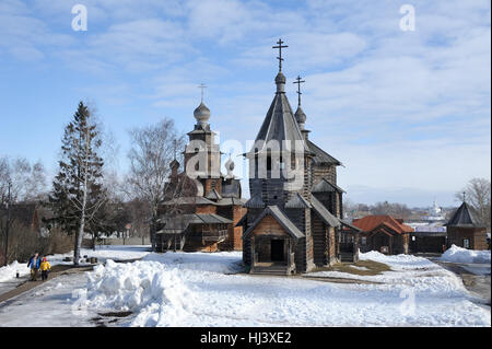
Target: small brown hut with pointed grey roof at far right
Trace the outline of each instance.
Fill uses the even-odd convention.
[[[447,226],[447,246],[456,245],[469,249],[489,249],[487,228],[479,223],[472,208],[462,202]]]

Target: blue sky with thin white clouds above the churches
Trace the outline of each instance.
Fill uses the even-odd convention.
[[[77,3],[86,32],[71,27]],[[399,27],[405,3],[413,32]],[[347,197],[453,205],[491,173],[490,11],[488,0],[1,0],[0,155],[55,173],[62,129],[85,100],[124,174],[127,130],[164,116],[191,130],[202,82],[212,128],[244,146],[273,97],[282,37],[291,105],[301,74],[306,128],[344,164]]]

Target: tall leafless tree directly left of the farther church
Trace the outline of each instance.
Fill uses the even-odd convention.
[[[169,163],[177,156],[178,150],[183,149],[184,135],[176,130],[174,120],[164,118],[156,125],[132,129],[130,137],[132,148],[128,153],[128,189],[132,198],[144,200],[149,207],[149,231],[152,251],[155,251],[159,208],[165,199]]]

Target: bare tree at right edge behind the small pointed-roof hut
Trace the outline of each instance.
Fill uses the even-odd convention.
[[[468,185],[464,189],[455,194],[457,201],[461,201],[465,194],[465,201],[472,207],[477,213],[477,218],[480,220],[480,223],[483,224],[483,226],[487,226],[488,232],[490,232],[491,228],[490,193],[491,183],[489,179],[472,178],[468,182]]]

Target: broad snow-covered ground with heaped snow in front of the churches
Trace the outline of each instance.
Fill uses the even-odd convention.
[[[362,255],[389,265],[382,284],[236,274],[241,253],[150,254],[87,274],[87,309],[131,311],[126,326],[490,326],[461,280],[425,258]],[[309,276],[321,277],[321,274]]]

